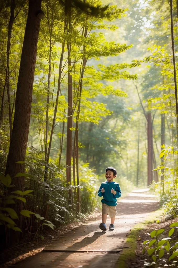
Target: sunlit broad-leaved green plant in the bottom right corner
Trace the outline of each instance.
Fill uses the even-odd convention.
[[[174,222],[169,225],[168,236],[161,239],[161,234],[165,229],[153,230],[149,235],[153,240],[146,240],[143,242],[143,254],[147,251],[147,254],[151,256],[153,262],[144,261],[145,266],[175,266],[177,260],[173,260],[178,255],[178,239],[177,229],[178,222]],[[172,261],[173,260],[173,261]]]

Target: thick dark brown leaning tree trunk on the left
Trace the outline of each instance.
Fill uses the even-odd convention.
[[[5,172],[12,178],[18,172],[25,171],[24,164],[17,164],[16,162],[25,161],[25,152],[28,141],[31,113],[37,42],[40,20],[43,16],[43,12],[41,11],[41,1],[42,0],[29,0],[28,18],[25,27],[23,49],[17,82],[14,124]],[[16,190],[24,191],[24,177],[15,178],[12,180],[12,183],[14,184]],[[22,207],[23,202],[17,203],[17,212],[19,212]]]

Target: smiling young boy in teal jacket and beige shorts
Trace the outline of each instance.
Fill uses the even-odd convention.
[[[102,202],[102,223],[99,225],[99,228],[103,231],[106,231],[106,219],[107,215],[111,218],[111,224],[109,225],[109,230],[114,230],[114,220],[117,214],[117,198],[121,196],[121,189],[119,184],[113,181],[116,178],[117,171],[116,169],[109,167],[106,169],[106,180],[103,182],[99,188],[98,195],[103,196],[101,199]]]

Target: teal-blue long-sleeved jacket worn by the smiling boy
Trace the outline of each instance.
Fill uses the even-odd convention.
[[[105,189],[103,193],[101,192],[102,188]],[[116,191],[116,195],[111,193],[112,188],[114,189],[114,191]],[[121,196],[121,189],[119,187],[119,184],[115,181],[104,181],[99,188],[98,196],[103,196],[103,199],[101,199],[102,203],[105,203],[108,206],[117,206],[117,198]]]

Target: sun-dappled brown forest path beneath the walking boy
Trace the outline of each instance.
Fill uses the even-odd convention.
[[[108,216],[106,221],[108,229],[102,232],[99,229],[101,223],[99,217],[65,233],[42,252],[11,267],[114,268],[129,230],[134,225],[149,219],[151,212],[159,207],[155,196],[149,194],[148,190],[135,190],[119,200],[114,231],[109,231]]]

